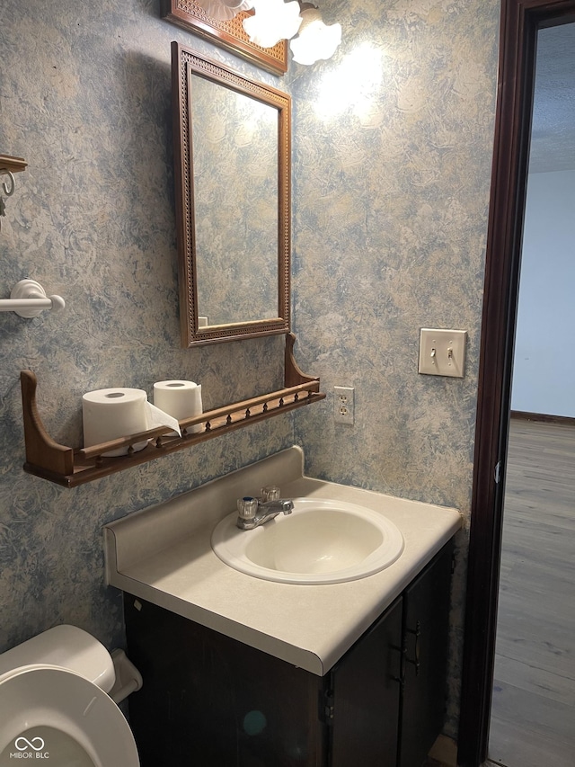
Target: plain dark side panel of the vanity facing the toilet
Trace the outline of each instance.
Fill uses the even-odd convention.
[[[321,677],[128,595],[125,613],[142,767],[323,767]]]

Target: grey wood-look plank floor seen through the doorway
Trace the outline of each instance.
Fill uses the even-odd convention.
[[[575,764],[575,426],[512,419],[490,759]]]

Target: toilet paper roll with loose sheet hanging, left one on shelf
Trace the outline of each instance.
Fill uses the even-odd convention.
[[[88,391],[82,397],[84,421],[84,447],[146,432],[156,426],[170,426],[180,433],[175,418],[158,407],[150,405],[141,388],[100,388]],[[147,440],[132,445],[134,450],[144,450]],[[105,456],[127,455],[128,446],[102,453]]]

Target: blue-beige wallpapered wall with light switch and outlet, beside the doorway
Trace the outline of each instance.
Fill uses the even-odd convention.
[[[294,323],[329,397],[296,415],[306,470],[455,506],[447,734],[456,733],[495,108],[495,0],[323,0],[336,55],[292,63]],[[464,379],[418,374],[421,327],[468,333]],[[355,387],[354,426],[333,386]]]

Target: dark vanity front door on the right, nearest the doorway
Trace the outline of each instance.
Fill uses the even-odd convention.
[[[420,767],[443,727],[452,548],[442,548],[403,593],[400,767]]]

